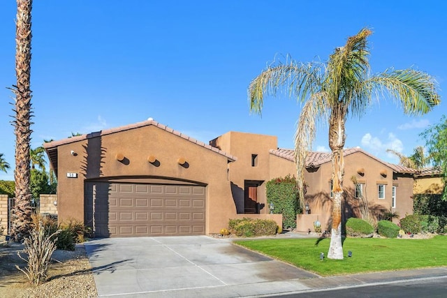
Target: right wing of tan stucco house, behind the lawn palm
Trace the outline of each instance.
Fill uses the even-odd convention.
[[[293,150],[271,150],[271,154],[293,162]],[[332,207],[331,154],[309,152],[306,161],[305,204],[310,214],[300,214],[297,229],[314,230],[319,221],[323,230],[330,225]],[[413,213],[413,175],[418,171],[379,160],[360,148],[344,150],[344,202],[342,216],[380,220],[386,212],[400,217]]]

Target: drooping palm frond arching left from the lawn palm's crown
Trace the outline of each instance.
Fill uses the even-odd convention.
[[[304,101],[321,85],[321,73],[321,65],[316,63],[298,64],[291,61],[268,66],[249,84],[250,111],[261,114],[264,97],[276,96],[278,91],[285,91],[286,96],[295,96],[298,101]]]

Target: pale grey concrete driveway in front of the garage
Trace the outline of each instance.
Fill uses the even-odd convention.
[[[306,290],[297,279],[317,277],[207,236],[95,239],[85,248],[100,297],[249,297]]]

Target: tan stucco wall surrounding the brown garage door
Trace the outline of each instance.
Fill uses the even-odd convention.
[[[77,155],[73,156],[72,150]],[[123,162],[117,161],[117,154],[124,155]],[[158,167],[147,161],[149,155],[156,157]],[[189,167],[177,163],[180,157],[186,159]],[[236,214],[227,162],[226,156],[156,126],[63,144],[58,148],[59,220],[84,219],[85,179],[121,177],[138,181],[165,177],[207,186],[206,233],[217,233]],[[68,172],[78,173],[78,178],[68,178]]]

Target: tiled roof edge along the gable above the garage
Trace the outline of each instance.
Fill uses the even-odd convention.
[[[57,140],[53,142],[47,142],[43,144],[43,147],[47,151],[48,158],[50,158],[50,163],[52,164],[52,168],[54,172],[57,173],[57,147],[65,144],[71,144],[74,142],[80,142],[82,140],[88,140],[93,137],[99,137],[103,135],[110,135],[112,133],[119,133],[122,131],[129,131],[131,129],[140,128],[144,126],[156,126],[157,128],[162,129],[163,131],[167,131],[168,133],[172,133],[173,135],[177,135],[178,137],[182,137],[184,140],[187,140],[189,142],[192,142],[193,144],[197,144],[200,147],[204,147],[205,149],[209,149],[211,151],[216,152],[217,154],[221,154],[222,156],[225,156],[228,158],[229,161],[237,161],[237,157],[233,156],[231,154],[228,154],[220,149],[217,149],[216,147],[212,147],[209,144],[205,144],[204,142],[200,142],[199,140],[194,139],[193,137],[189,137],[188,135],[185,135],[184,133],[180,133],[179,131],[173,130],[173,128],[169,128],[166,125],[163,125],[157,121],[154,121],[152,119],[149,119],[147,121],[138,122],[135,124],[129,124],[126,126],[119,126],[117,128],[109,128],[105,129],[103,131],[96,131],[94,133],[87,133],[85,135],[77,135],[74,137],[68,137],[63,140]]]

